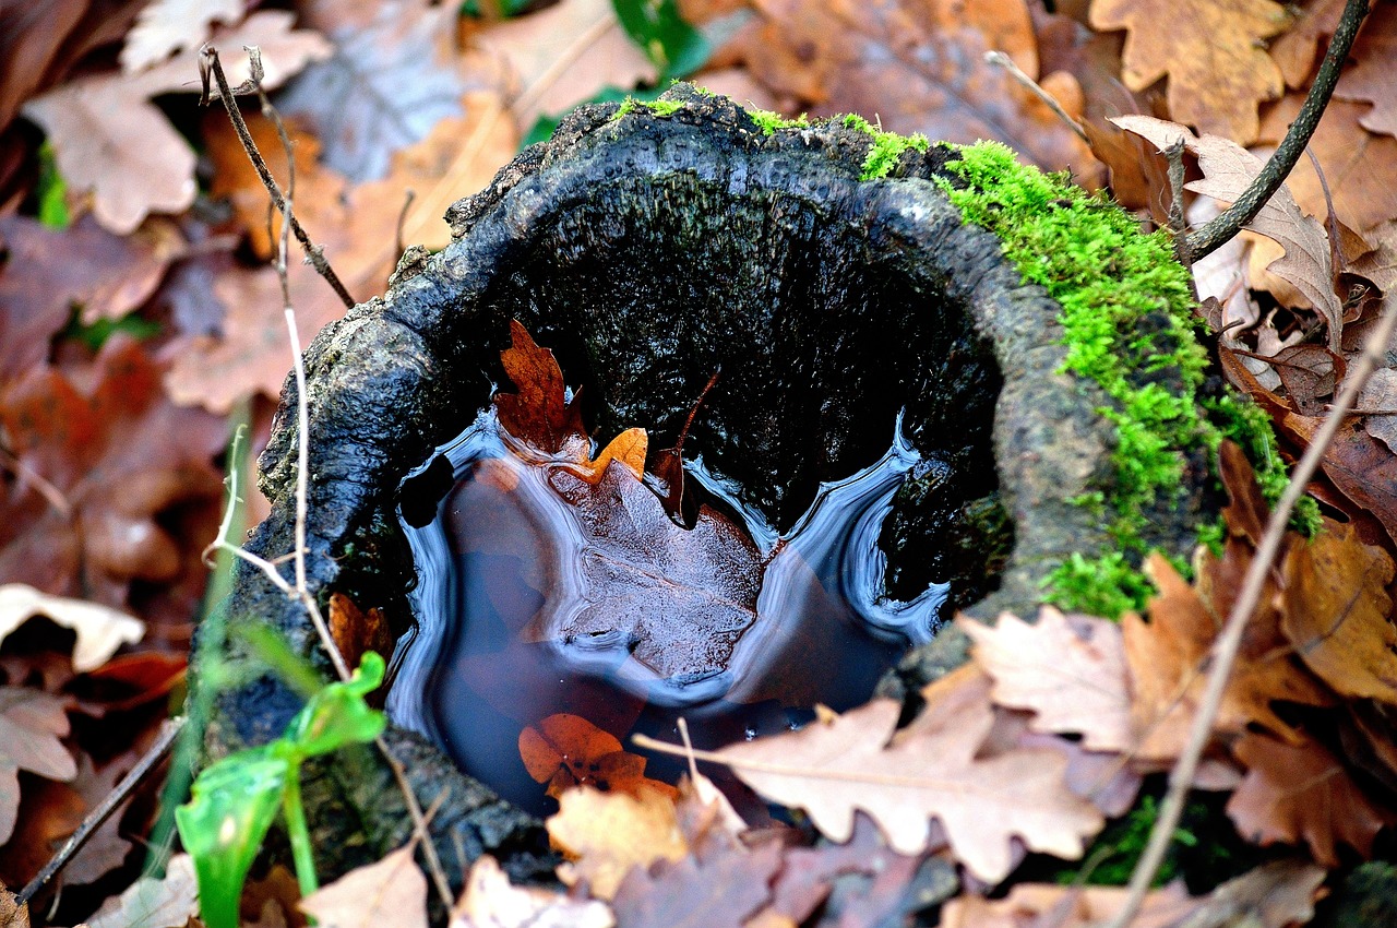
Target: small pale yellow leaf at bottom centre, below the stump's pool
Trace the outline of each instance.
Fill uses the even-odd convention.
[[[631,868],[689,853],[673,801],[657,790],[636,797],[577,787],[559,797],[546,825],[553,844],[574,858],[559,865],[557,878],[569,886],[587,880],[587,890],[606,901]]]

